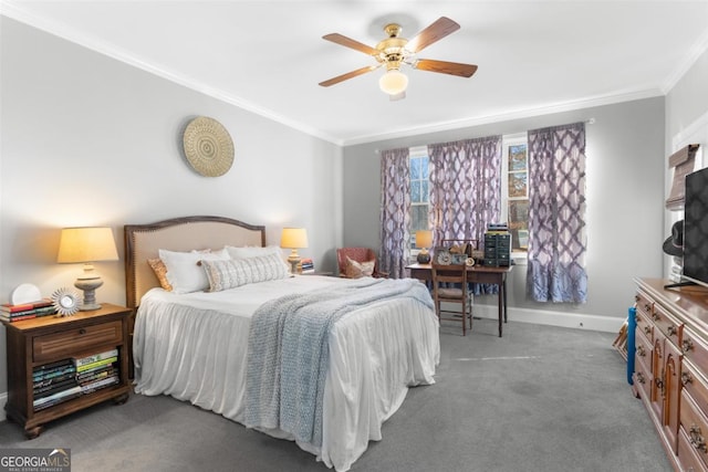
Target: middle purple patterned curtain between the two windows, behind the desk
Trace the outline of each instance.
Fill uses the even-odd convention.
[[[483,243],[501,211],[501,136],[428,146],[433,245],[444,239]]]

